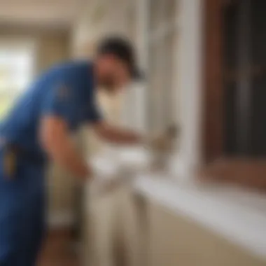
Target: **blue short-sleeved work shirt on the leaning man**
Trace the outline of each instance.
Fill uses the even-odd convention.
[[[38,139],[43,116],[62,118],[70,132],[85,121],[94,123],[101,119],[95,104],[91,62],[67,62],[43,73],[1,123],[0,136],[29,152],[43,155]]]

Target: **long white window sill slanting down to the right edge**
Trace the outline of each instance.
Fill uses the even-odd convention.
[[[134,188],[176,214],[193,218],[266,259],[266,197],[232,187],[182,185],[167,176],[139,175]]]

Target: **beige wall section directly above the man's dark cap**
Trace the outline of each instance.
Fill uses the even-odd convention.
[[[73,55],[90,55],[95,43],[106,34],[123,34],[131,37],[132,29],[127,12],[130,1],[86,0],[83,11],[73,27]]]

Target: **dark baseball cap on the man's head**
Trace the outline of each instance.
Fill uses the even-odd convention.
[[[102,39],[97,48],[97,55],[112,54],[123,60],[134,80],[144,79],[144,73],[138,68],[135,50],[130,41],[119,36],[111,36]]]

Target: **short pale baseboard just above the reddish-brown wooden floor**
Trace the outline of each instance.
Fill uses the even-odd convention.
[[[66,228],[71,227],[75,223],[75,218],[71,212],[62,211],[57,214],[50,214],[48,217],[49,228]]]

